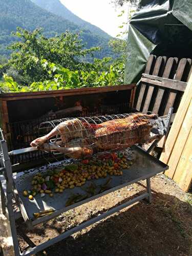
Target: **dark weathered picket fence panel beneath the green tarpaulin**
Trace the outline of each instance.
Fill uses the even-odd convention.
[[[192,72],[191,62],[190,58],[150,55],[136,89],[134,108],[166,116],[173,107],[176,113]]]

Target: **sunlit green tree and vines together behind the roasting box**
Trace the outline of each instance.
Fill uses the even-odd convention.
[[[85,61],[99,47],[85,49],[79,34],[66,31],[47,38],[40,29],[30,32],[17,28],[8,60],[2,59],[0,70],[5,82],[0,82],[1,91],[24,92],[60,90],[78,87],[112,86],[123,83],[125,46],[120,39],[110,41],[109,47],[117,58],[94,58]]]

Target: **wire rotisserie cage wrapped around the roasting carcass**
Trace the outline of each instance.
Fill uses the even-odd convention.
[[[40,124],[39,136],[47,136],[51,131],[51,143],[44,143],[39,149],[72,158],[122,150],[148,143],[162,134],[158,116],[142,113],[63,118]]]

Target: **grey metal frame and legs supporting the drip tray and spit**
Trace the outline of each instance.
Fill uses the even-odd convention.
[[[99,195],[88,198],[88,199],[83,200],[79,203],[76,203],[76,204],[72,205],[71,208],[75,208],[78,205],[82,205],[82,204],[87,203],[89,201],[92,201],[96,198],[99,198],[103,195],[109,194],[109,193],[111,193],[112,191],[114,191],[118,188],[133,184],[135,182],[138,182],[138,181],[141,181],[141,180],[144,180],[144,179],[146,179],[146,193],[143,193],[142,195],[137,196],[132,200],[129,200],[129,201],[123,203],[123,204],[120,204],[120,205],[104,212],[103,214],[101,214],[101,215],[99,215],[95,218],[92,218],[89,221],[86,221],[86,222],[84,222],[84,223],[82,223],[78,226],[75,226],[72,229],[59,234],[59,236],[57,236],[57,237],[55,237],[55,238],[53,238],[53,239],[51,239],[47,242],[44,242],[44,243],[42,243],[40,245],[37,245],[33,248],[29,248],[24,252],[21,252],[20,248],[19,248],[18,241],[17,241],[17,231],[16,231],[16,225],[15,225],[15,220],[18,218],[18,215],[15,215],[15,213],[13,211],[13,205],[12,205],[12,195],[13,195],[13,187],[14,187],[12,166],[11,166],[11,162],[10,162],[10,158],[9,158],[7,143],[3,138],[2,132],[1,132],[0,135],[2,136],[2,140],[0,140],[0,146],[1,146],[1,152],[2,152],[2,155],[1,155],[1,158],[0,158],[0,164],[1,164],[1,166],[3,166],[1,168],[1,172],[0,172],[0,188],[1,188],[1,199],[2,199],[1,207],[2,207],[4,215],[6,215],[6,211],[8,211],[9,223],[10,223],[11,234],[12,234],[12,239],[13,239],[13,246],[14,246],[16,256],[24,256],[24,255],[27,256],[27,255],[35,254],[35,253],[37,253],[41,250],[44,250],[45,248],[63,240],[63,239],[66,239],[67,237],[71,236],[71,234],[73,234],[77,231],[80,231],[80,230],[82,230],[82,229],[84,229],[84,228],[86,228],[86,227],[88,227],[88,226],[90,226],[90,225],[92,225],[92,224],[94,224],[94,223],[96,223],[96,222],[114,214],[115,212],[118,212],[119,210],[134,204],[135,202],[139,202],[143,199],[146,199],[148,203],[151,203],[151,201],[152,201],[150,178],[157,174],[157,172],[155,172],[155,170],[154,170],[154,173],[150,173],[148,176],[146,175],[146,176],[140,177],[140,178],[138,178],[134,181],[131,181],[130,183],[126,183],[126,184],[123,184],[123,185],[118,186],[118,187],[113,187],[109,190],[104,191],[103,193],[101,193]],[[140,150],[143,151],[144,154],[148,155],[148,153],[146,151],[144,151],[142,148],[140,148]],[[150,156],[150,157],[152,157],[152,156]],[[154,161],[162,164],[162,168],[163,168],[162,171],[168,168],[167,165],[163,164],[158,159],[154,158]],[[67,210],[67,208],[66,208],[66,210]],[[56,216],[58,216],[59,214],[61,214],[62,212],[63,211],[61,211],[61,212],[60,211],[55,211],[55,212],[53,212],[52,215],[50,215],[51,218],[50,218],[50,216],[45,216],[42,222],[53,219]]]

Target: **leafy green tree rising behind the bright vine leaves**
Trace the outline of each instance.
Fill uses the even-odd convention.
[[[13,34],[20,41],[14,42],[9,49],[13,51],[6,67],[14,67],[28,84],[49,78],[41,65],[43,59],[54,62],[70,70],[91,70],[92,64],[80,61],[87,55],[93,56],[99,47],[84,49],[78,34],[69,31],[59,36],[47,38],[40,29],[32,32],[17,28]]]

